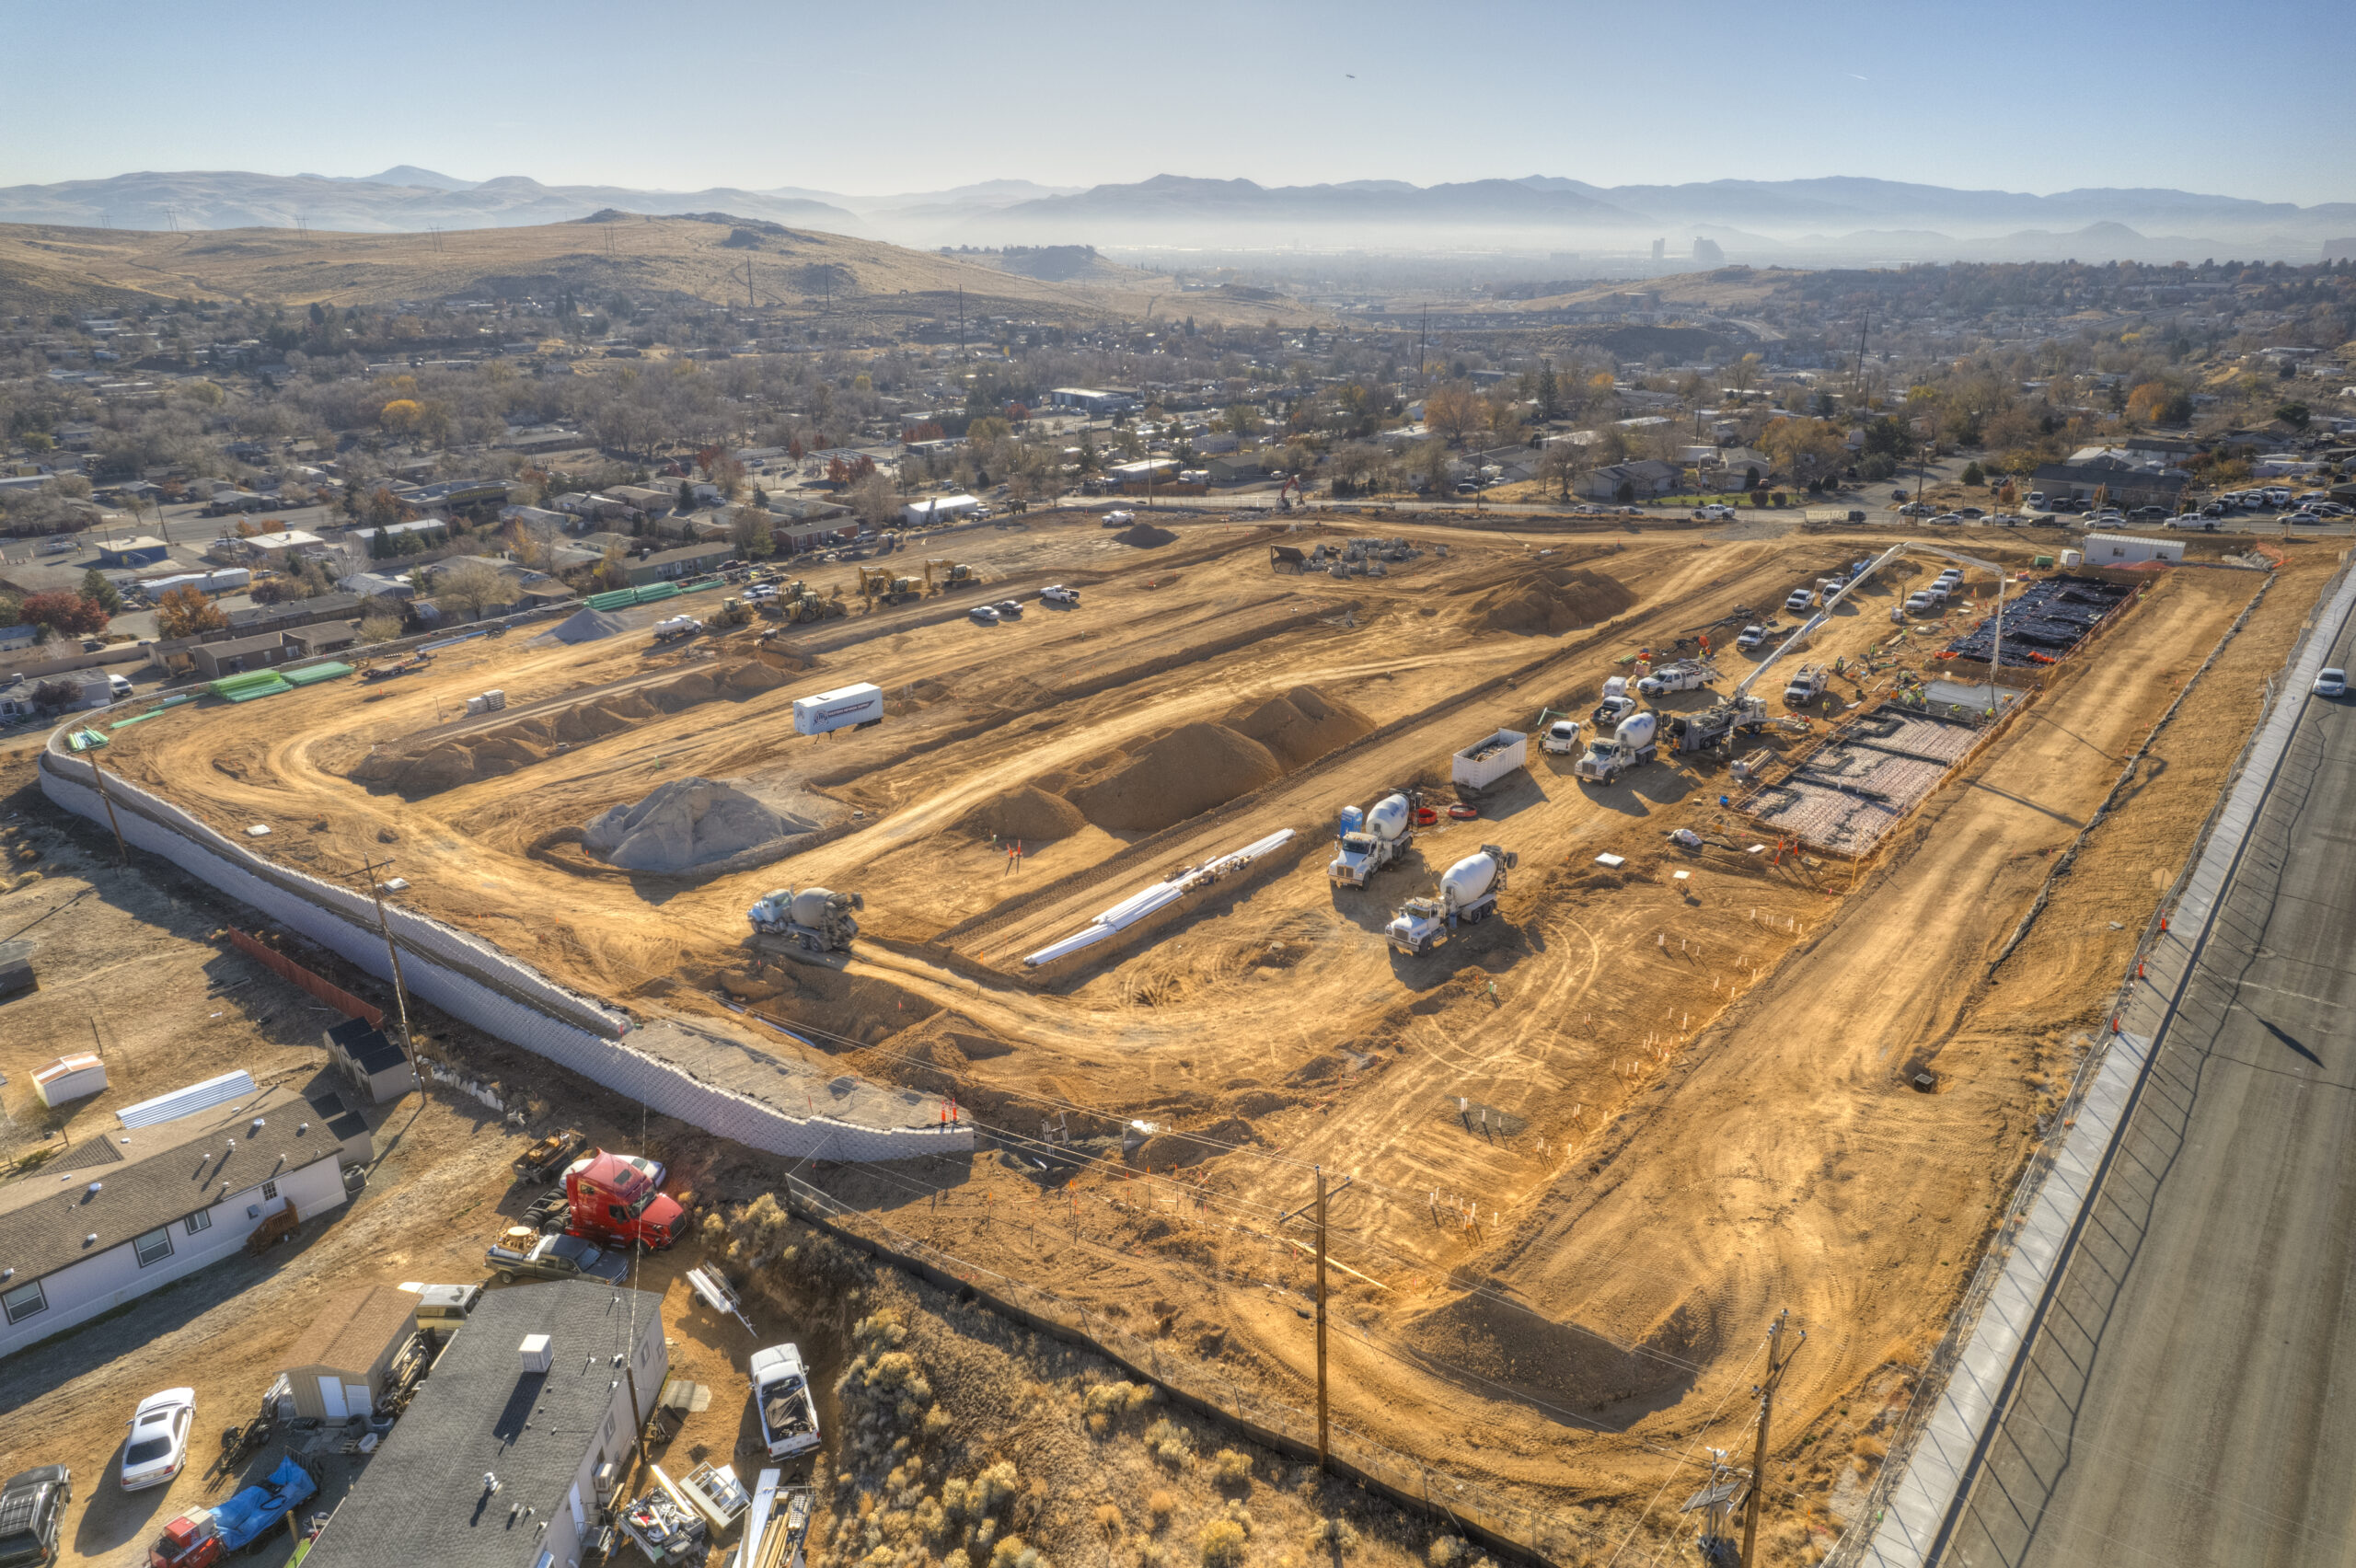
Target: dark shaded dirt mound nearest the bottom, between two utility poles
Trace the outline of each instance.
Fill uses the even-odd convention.
[[[1468,1295],[1421,1314],[1407,1340],[1432,1356],[1510,1387],[1534,1389],[1579,1410],[1628,1415],[1626,1406],[1675,1403],[1706,1361],[1685,1311],[1640,1344],[1553,1323],[1484,1295]]]

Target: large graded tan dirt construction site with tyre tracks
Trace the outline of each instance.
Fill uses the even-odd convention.
[[[2337,563],[2297,544],[2271,572],[2208,556],[2090,574],[2123,589],[2102,636],[2038,664],[2038,690],[2007,687],[2024,697],[1991,730],[1920,697],[1970,683],[1939,655],[1993,610],[1986,570],[1963,570],[1953,607],[1892,617],[1944,565],[1894,556],[1805,647],[1736,652],[1795,586],[1894,537],[1555,527],[1180,523],[1129,544],[1046,513],[961,534],[973,593],[787,626],[796,669],[754,657],[759,619],[655,645],[676,607],[648,605],[594,640],[450,647],[365,695],[188,704],[118,732],[104,765],[221,833],[271,826],[250,843],[292,869],[391,857],[403,906],[641,1022],[679,1019],[671,1059],[744,1041],[747,1095],[789,1081],[768,1059],[806,1062],[794,1114],[825,1076],[954,1095],[1032,1158],[978,1154],[954,1191],[843,1165],[834,1194],[1107,1321],[1138,1328],[1152,1302],[1166,1358],[1282,1398],[1315,1361],[1289,1295],[1312,1260],[1279,1217],[1312,1165],[1355,1177],[1331,1217],[1350,1269],[1333,1420],[1550,1507],[1635,1507],[1682,1474],[1670,1455],[1741,1446],[1765,1328],[1791,1309],[1809,1337],[1776,1396],[1774,1469],[1805,1507],[1769,1540],[1798,1561],[1864,1497],[1988,1215]],[[1421,553],[1383,577],[1270,567],[1272,544],[1352,534]],[[2029,579],[2010,603],[2059,544],[2021,530],[1974,549]],[[827,572],[855,591],[851,567],[815,589]],[[1081,603],[1039,605],[1046,584]],[[985,598],[1030,614],[975,626]],[[1449,779],[1482,737],[1583,716],[1609,676],[1635,685],[1642,650],[1718,671],[1644,699],[1663,718],[1765,673],[1760,727],[1732,753],[1663,742],[1609,782],[1536,746],[1477,800]],[[1791,711],[1800,655],[1833,673]],[[881,687],[881,723],[794,732],[796,697],[855,683]],[[488,687],[504,711],[445,718]],[[1991,979],[2146,737],[2142,789]],[[1732,756],[1755,753],[1769,784],[1748,793]],[[580,843],[690,779],[712,789],[690,791],[707,805],[676,829],[681,869]],[[1343,808],[1407,789],[1423,796],[1409,850],[1362,885],[1331,878]],[[763,822],[740,796],[782,848],[747,864],[737,833],[697,862],[702,824]],[[1861,800],[1911,829],[1875,831]],[[1783,838],[1864,855],[1781,852],[1772,812]],[[1235,873],[1187,878],[1246,845]],[[1385,939],[1482,845],[1515,857],[1487,918],[1430,951]],[[1025,965],[1180,883],[1159,923]],[[747,909],[780,888],[855,892],[848,954],[763,951]],[[1925,1069],[1946,1092],[1915,1092]],[[1041,1125],[1053,1147],[1023,1142]],[[987,1222],[1046,1191],[1067,1212]]]

